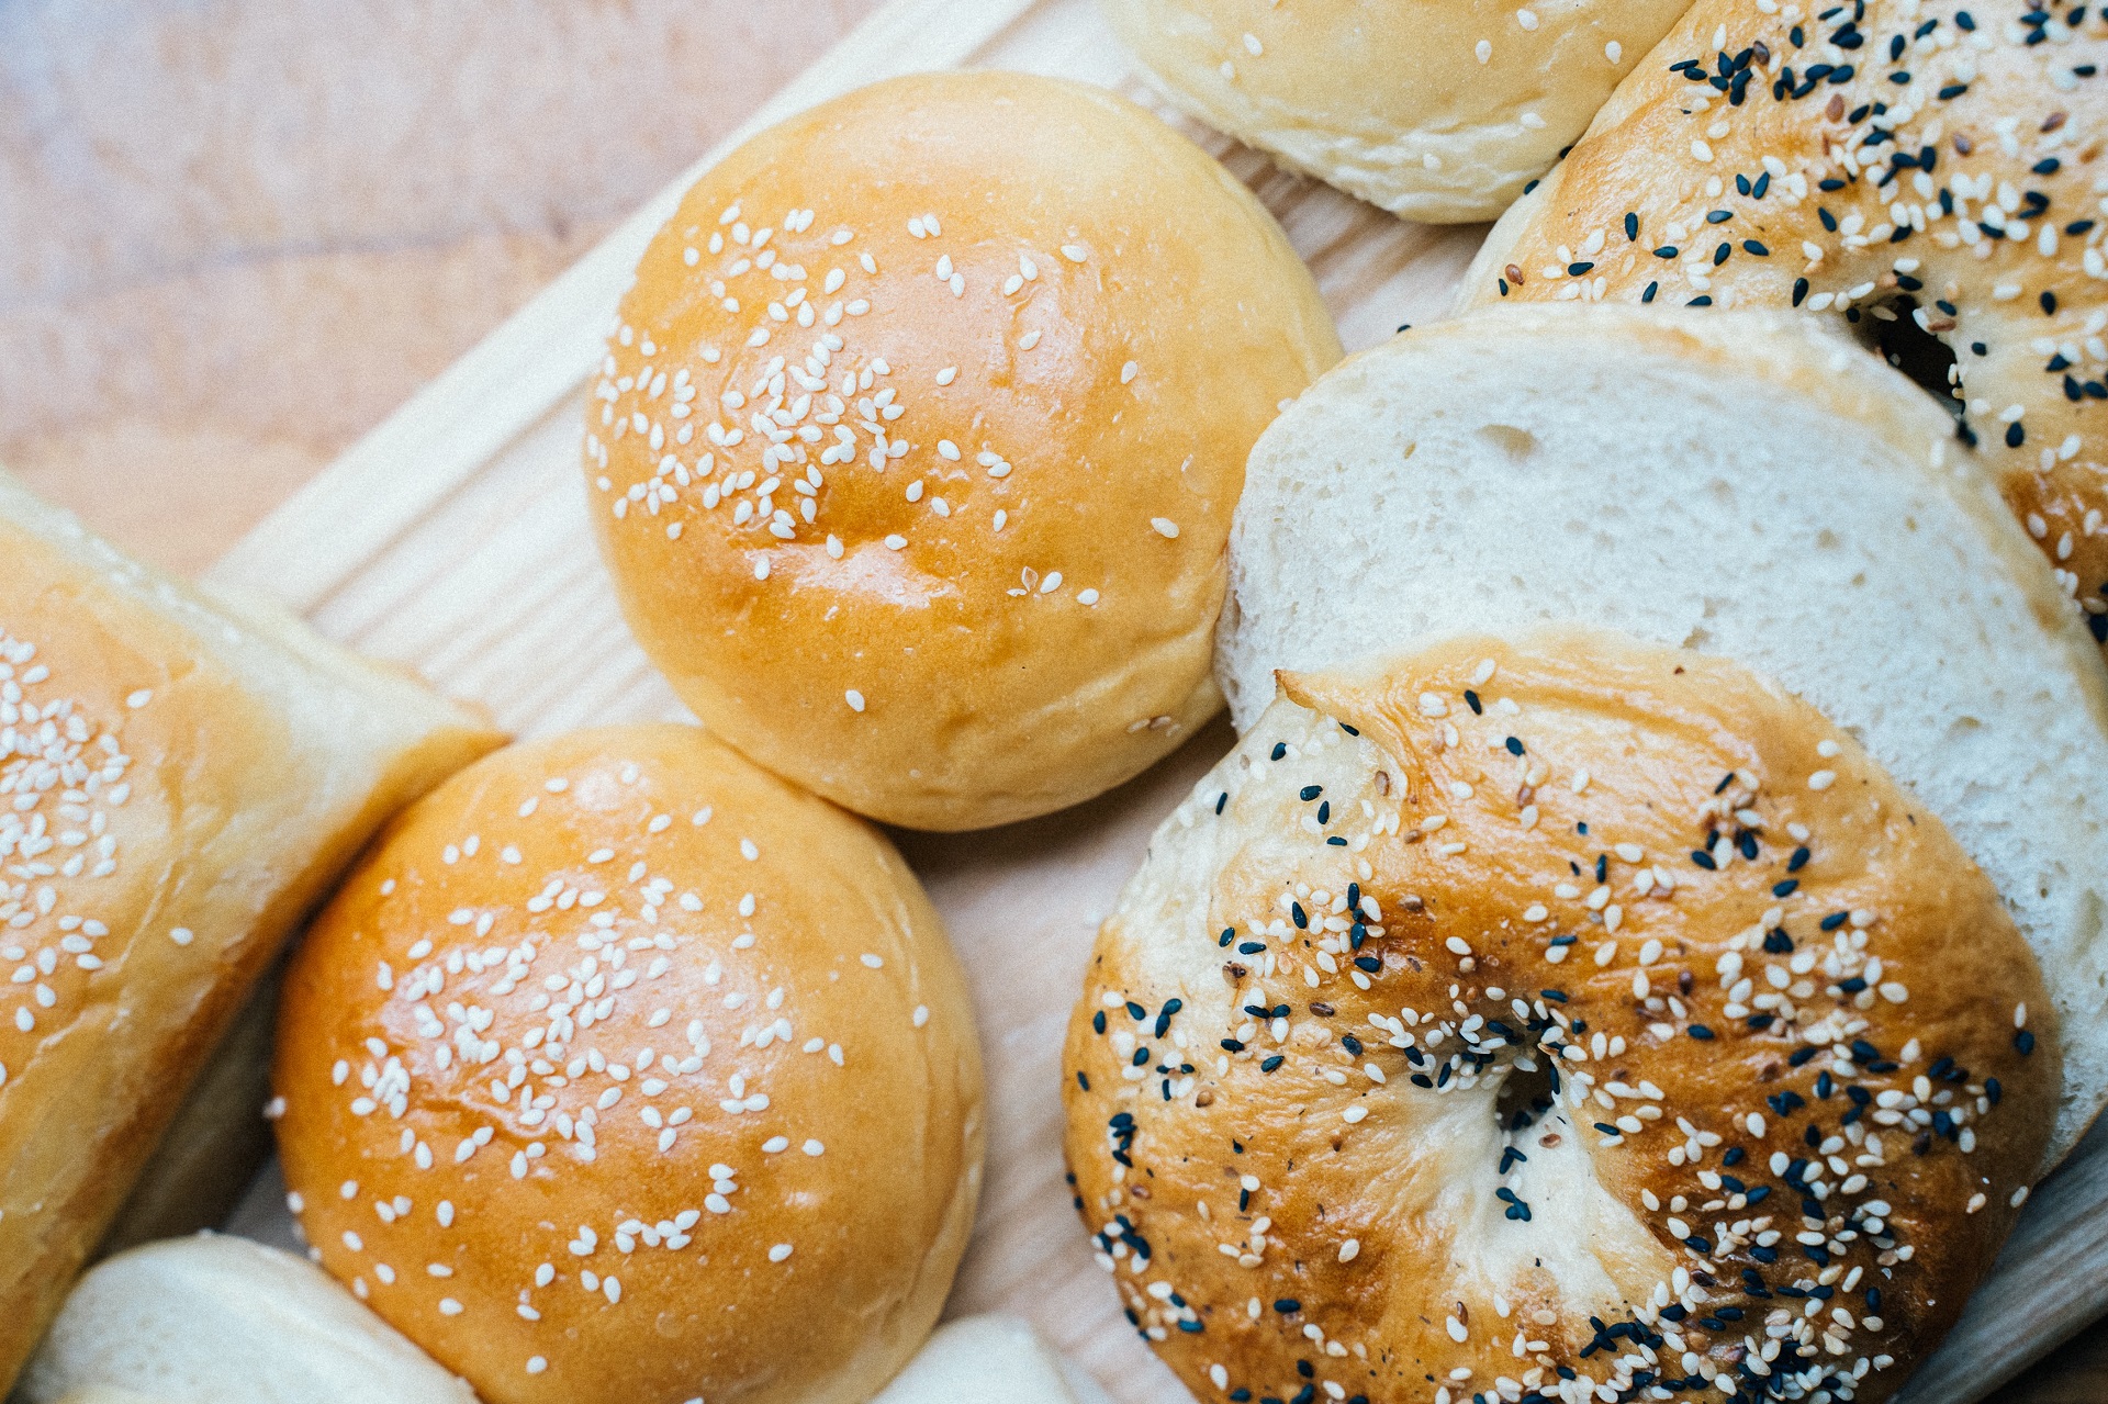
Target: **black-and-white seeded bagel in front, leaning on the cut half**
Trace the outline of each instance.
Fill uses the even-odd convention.
[[[1885,1400],[2057,1105],[1941,822],[1783,689],[1594,630],[1284,675],[1067,1071],[1084,1216],[1208,1400]]]

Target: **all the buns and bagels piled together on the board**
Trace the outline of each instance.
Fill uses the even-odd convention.
[[[1225,702],[1062,1056],[1185,1385],[1901,1387],[2108,1100],[2108,23],[1423,11],[1105,2],[1202,120],[1501,215],[1349,360],[1105,91],[894,80],[704,175],[584,428],[700,727],[508,746],[0,479],[19,1398],[1086,1398],[930,1334],[980,1052],[866,820]],[[312,1263],[177,1237],[259,1107]]]

